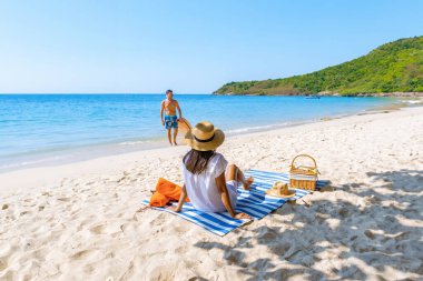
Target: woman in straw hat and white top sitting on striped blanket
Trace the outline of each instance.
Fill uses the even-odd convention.
[[[188,132],[186,142],[191,150],[184,157],[184,179],[179,203],[173,211],[179,212],[187,195],[197,210],[205,212],[228,211],[235,219],[250,219],[246,213],[235,213],[238,182],[249,189],[253,178],[247,180],[235,165],[228,164],[224,155],[215,152],[224,140],[222,130],[215,129],[210,122],[198,123]]]

